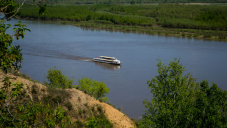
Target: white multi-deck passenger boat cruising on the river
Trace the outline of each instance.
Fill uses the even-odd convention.
[[[121,61],[115,57],[100,56],[93,59],[95,62],[108,63],[108,64],[121,64]]]

